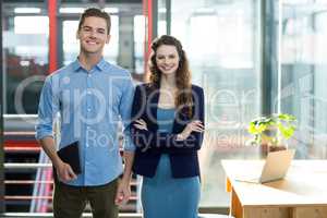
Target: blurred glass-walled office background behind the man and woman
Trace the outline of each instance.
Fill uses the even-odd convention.
[[[45,76],[72,62],[81,12],[111,14],[105,59],[145,78],[150,41],[179,38],[192,81],[205,89],[201,211],[225,213],[221,159],[259,158],[246,146],[262,114],[298,118],[298,159],[327,157],[326,0],[2,0],[0,211],[51,213],[49,160],[34,140]],[[121,213],[140,213],[140,178]],[[89,211],[89,208],[86,208]]]

